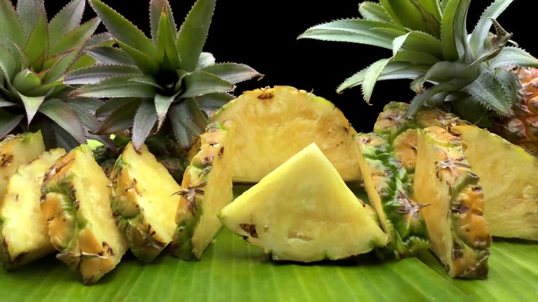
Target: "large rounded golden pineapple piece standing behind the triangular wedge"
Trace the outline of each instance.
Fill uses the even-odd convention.
[[[316,143],[344,180],[360,180],[352,134],[333,103],[293,87],[244,92],[210,121],[235,122],[234,182],[258,182],[275,168]]]

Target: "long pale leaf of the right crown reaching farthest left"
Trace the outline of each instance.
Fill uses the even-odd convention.
[[[392,29],[391,32],[378,31],[375,28]],[[396,24],[368,21],[362,19],[336,20],[319,24],[307,29],[298,38],[312,38],[322,41],[338,41],[374,45],[392,50],[394,38],[406,34]]]

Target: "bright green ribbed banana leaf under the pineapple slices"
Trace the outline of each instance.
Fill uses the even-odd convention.
[[[401,261],[280,263],[222,229],[201,261],[163,254],[142,264],[127,254],[91,286],[53,256],[0,269],[0,301],[535,301],[537,257],[535,243],[496,239],[488,279],[453,280],[430,252]]]

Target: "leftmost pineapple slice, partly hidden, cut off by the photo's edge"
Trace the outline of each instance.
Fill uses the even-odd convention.
[[[41,131],[27,132],[16,136],[10,135],[0,143],[0,198],[4,196],[11,173],[21,164],[28,164],[32,159],[45,152]]]

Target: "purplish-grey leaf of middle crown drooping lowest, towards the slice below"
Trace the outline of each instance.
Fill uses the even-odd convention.
[[[157,120],[157,111],[153,101],[142,101],[132,124],[132,145],[136,150],[142,149],[144,141],[146,141]]]

